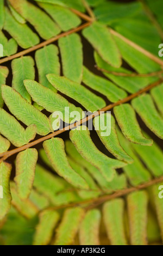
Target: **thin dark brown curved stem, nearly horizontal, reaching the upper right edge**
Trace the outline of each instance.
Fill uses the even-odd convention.
[[[102,68],[99,68],[99,66],[97,66],[97,65],[95,65],[95,68],[98,69],[99,71],[108,73],[110,75],[124,76],[124,77],[150,77],[150,76],[158,76],[158,75],[163,74],[163,70],[151,72],[151,73],[148,73],[148,74],[137,74],[137,73],[127,74],[127,73],[115,72],[115,71],[109,71],[109,70],[106,70],[106,69],[102,69]]]

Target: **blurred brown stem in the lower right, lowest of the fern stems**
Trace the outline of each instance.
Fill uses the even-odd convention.
[[[67,205],[60,205],[60,206],[52,206],[48,209],[59,210],[59,209],[70,208],[70,207],[74,207],[74,206],[80,206],[80,205],[86,205],[85,207],[87,208],[88,207],[87,204],[89,204],[89,205],[93,204],[92,206],[95,206],[95,205],[98,206],[98,205],[100,205],[100,204],[102,204],[106,201],[111,200],[111,199],[126,196],[126,194],[129,194],[131,192],[135,192],[135,191],[138,191],[138,190],[142,190],[142,189],[150,187],[154,184],[158,184],[162,181],[163,181],[163,176],[161,176],[160,178],[150,180],[149,182],[146,182],[146,183],[141,184],[139,186],[125,188],[124,190],[120,190],[120,191],[117,191],[117,192],[112,193],[112,194],[105,194],[104,196],[84,200],[82,202],[70,203],[70,204],[67,204]]]

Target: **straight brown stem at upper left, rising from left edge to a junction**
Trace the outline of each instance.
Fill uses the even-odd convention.
[[[55,42],[55,41],[57,41],[58,39],[63,38],[63,37],[66,36],[66,35],[70,35],[70,34],[72,34],[72,33],[79,32],[80,30],[82,30],[82,29],[84,29],[84,28],[86,28],[86,27],[89,27],[90,25],[91,25],[91,22],[84,23],[83,25],[81,25],[81,26],[79,26],[79,27],[77,27],[77,28],[73,28],[73,29],[71,29],[70,31],[61,33],[61,34],[59,34],[59,35],[57,35],[57,36],[54,36],[54,38],[48,39],[48,40],[46,40],[46,41],[43,41],[43,42],[41,42],[41,44],[39,44],[39,45],[35,45],[35,46],[33,46],[33,47],[31,47],[31,48],[29,48],[29,49],[27,49],[27,50],[23,50],[23,51],[21,51],[21,52],[18,52],[18,53],[14,54],[14,55],[9,56],[9,57],[5,57],[5,58],[3,58],[3,59],[0,59],[0,64],[5,63],[5,62],[8,62],[9,60],[12,60],[12,59],[15,59],[15,58],[24,56],[24,55],[26,55],[26,54],[28,54],[28,53],[30,53],[30,52],[36,51],[36,50],[42,48],[43,46],[52,44],[52,42]]]

